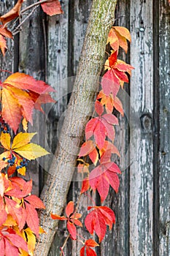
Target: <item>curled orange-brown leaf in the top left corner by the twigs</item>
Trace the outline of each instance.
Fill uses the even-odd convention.
[[[12,10],[10,10],[9,12],[0,17],[0,21],[3,24],[3,26],[5,26],[11,20],[17,18],[20,15],[20,7],[22,3],[23,0],[18,0],[17,4],[15,4],[15,7],[13,7]]]

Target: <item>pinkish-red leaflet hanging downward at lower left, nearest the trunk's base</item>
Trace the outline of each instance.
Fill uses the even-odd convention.
[[[39,237],[39,217],[38,214],[33,206],[31,206],[29,203],[25,202],[26,206],[26,223],[28,227],[31,228],[31,230],[36,234],[37,237]]]

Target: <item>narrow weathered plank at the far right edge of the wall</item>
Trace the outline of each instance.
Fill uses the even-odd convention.
[[[170,255],[170,15],[168,1],[160,2],[160,248]]]

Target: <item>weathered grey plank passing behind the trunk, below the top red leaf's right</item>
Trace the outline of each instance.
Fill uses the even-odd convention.
[[[61,1],[62,15],[47,16],[47,83],[56,90],[52,95],[56,103],[47,110],[46,145],[53,157],[58,143],[58,121],[68,103],[68,58],[69,58],[69,0]],[[45,172],[50,169],[51,159],[45,163]],[[49,256],[60,254],[60,246],[67,236],[66,224],[60,223]],[[69,255],[69,246],[65,254]]]

